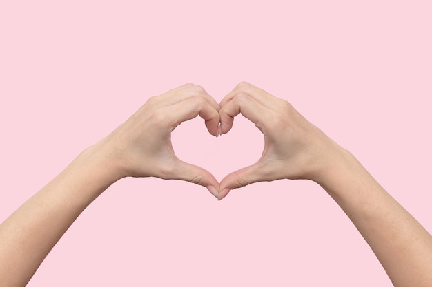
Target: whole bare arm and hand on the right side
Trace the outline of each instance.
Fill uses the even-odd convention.
[[[264,134],[258,162],[220,182],[231,189],[259,181],[308,179],[320,184],[352,220],[394,286],[432,286],[431,235],[378,184],[354,156],[285,100],[241,83],[220,103],[221,131],[242,114]]]

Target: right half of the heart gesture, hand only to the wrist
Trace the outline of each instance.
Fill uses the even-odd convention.
[[[279,179],[319,181],[342,148],[312,125],[285,100],[248,83],[240,83],[220,103],[220,132],[233,127],[242,114],[264,134],[262,157],[253,165],[226,176],[219,200],[231,189]]]

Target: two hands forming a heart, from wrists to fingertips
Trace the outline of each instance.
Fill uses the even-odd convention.
[[[213,136],[226,134],[242,114],[264,134],[262,157],[228,174],[219,184],[205,169],[175,156],[171,132],[201,116]],[[154,176],[207,187],[219,200],[231,189],[260,181],[310,179],[317,182],[340,147],[291,104],[248,83],[240,83],[218,104],[200,86],[186,84],[150,98],[104,140],[115,147],[117,177]]]

